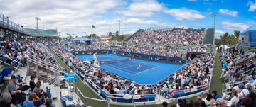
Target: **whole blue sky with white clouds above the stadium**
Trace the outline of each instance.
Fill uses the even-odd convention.
[[[216,38],[223,33],[245,30],[256,23],[255,0],[0,0],[0,13],[26,28],[58,28],[66,33],[107,35],[118,30],[132,34],[139,28],[213,28],[216,16]]]

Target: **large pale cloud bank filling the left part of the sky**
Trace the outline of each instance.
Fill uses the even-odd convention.
[[[58,28],[61,35],[66,33],[82,35],[82,32],[90,34],[91,25],[97,21],[93,18],[100,18],[102,14],[117,8],[123,2],[121,0],[75,0],[72,2],[63,0],[1,0],[0,10],[5,16],[9,16],[11,21],[19,23],[25,28],[36,28],[34,18],[38,16],[41,18],[41,21],[38,21],[38,28]],[[96,26],[93,33],[100,35],[103,32],[97,32],[97,30],[106,31],[111,30],[111,28]]]

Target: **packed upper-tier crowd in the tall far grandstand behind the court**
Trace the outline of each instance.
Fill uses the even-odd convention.
[[[152,29],[150,32],[142,32],[129,40],[129,43],[161,44],[161,45],[200,45],[203,42],[203,31],[189,31],[178,29],[174,31]]]

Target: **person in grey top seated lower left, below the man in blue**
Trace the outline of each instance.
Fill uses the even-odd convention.
[[[18,89],[16,85],[26,84],[26,82],[20,82],[18,83],[16,76],[12,75],[11,80],[8,84],[8,91],[11,93],[11,103],[17,104],[22,103],[26,100],[26,94],[22,93],[21,89]]]

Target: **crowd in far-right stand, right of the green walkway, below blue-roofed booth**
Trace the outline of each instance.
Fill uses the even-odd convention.
[[[235,46],[223,50],[220,61],[223,67],[220,79],[230,84],[230,92],[223,93],[228,106],[256,106],[255,52],[245,53]]]

